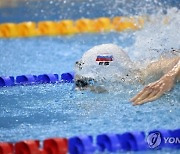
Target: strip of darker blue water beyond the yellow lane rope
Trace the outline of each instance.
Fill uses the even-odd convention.
[[[5,1],[5,0],[4,0]],[[180,8],[179,0],[19,0],[0,8],[0,23],[146,15]]]

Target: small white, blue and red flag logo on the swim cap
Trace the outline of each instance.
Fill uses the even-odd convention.
[[[113,61],[112,55],[98,55],[96,58],[96,62],[99,63],[99,65],[109,65],[109,62]]]

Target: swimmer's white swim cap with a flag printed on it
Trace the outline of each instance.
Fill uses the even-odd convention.
[[[117,45],[102,44],[84,53],[76,69],[78,75],[91,78],[109,78],[127,74],[132,62]]]

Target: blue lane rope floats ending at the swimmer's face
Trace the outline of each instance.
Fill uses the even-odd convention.
[[[61,82],[73,82],[74,72],[68,72],[61,74],[59,78],[58,74],[42,74],[42,75],[20,75],[17,77],[8,76],[0,77],[0,87],[12,87],[16,85],[33,85],[33,84],[45,84],[45,83],[61,83]]]

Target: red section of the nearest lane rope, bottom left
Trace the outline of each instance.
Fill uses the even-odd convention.
[[[0,154],[67,154],[68,140],[65,138],[50,138],[43,142],[26,140],[13,143],[0,143]]]

